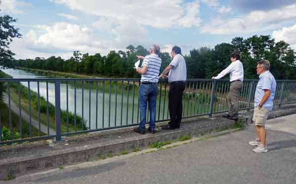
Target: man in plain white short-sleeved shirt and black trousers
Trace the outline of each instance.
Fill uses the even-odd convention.
[[[159,77],[166,78],[170,83],[169,91],[169,111],[170,122],[163,126],[163,130],[170,130],[180,128],[182,120],[182,96],[186,86],[186,63],[184,57],[181,55],[181,48],[174,46],[171,52],[173,60],[167,66]],[[169,73],[168,76],[166,74]]]

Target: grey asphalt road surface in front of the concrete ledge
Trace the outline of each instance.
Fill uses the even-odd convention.
[[[90,162],[79,170],[56,169],[8,183],[296,184],[295,119],[294,114],[269,120],[267,153],[252,152],[248,141],[255,134],[254,126],[249,126],[205,141],[107,163]],[[283,128],[288,126],[289,130]]]

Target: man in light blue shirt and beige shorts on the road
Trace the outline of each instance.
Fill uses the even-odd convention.
[[[257,65],[257,74],[259,81],[255,92],[255,109],[253,121],[256,125],[257,138],[250,141],[252,146],[258,146],[253,149],[254,152],[267,152],[265,123],[269,112],[273,108],[273,99],[276,90],[276,81],[274,76],[269,72],[269,61],[261,60]]]

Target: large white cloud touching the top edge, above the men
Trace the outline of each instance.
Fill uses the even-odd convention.
[[[51,0],[54,1],[54,0]],[[154,28],[199,26],[199,1],[185,0],[55,0],[73,10]],[[192,7],[190,7],[190,5]],[[194,10],[196,12],[194,12]],[[181,23],[179,24],[179,22]]]

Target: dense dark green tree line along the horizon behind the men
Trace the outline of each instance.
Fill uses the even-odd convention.
[[[13,60],[12,66],[31,69],[91,74],[105,77],[140,77],[134,71],[136,55],[147,55],[149,52],[142,45],[129,45],[126,51],[110,51],[108,55],[100,53],[89,55],[74,51],[70,59],[51,56],[49,58]],[[264,58],[270,61],[271,73],[276,79],[296,79],[296,53],[285,41],[276,42],[270,36],[253,36],[244,39],[235,37],[231,43],[217,44],[214,48],[201,47],[190,50],[185,55],[188,78],[211,78],[219,74],[230,64],[229,56],[239,52],[244,65],[245,78],[258,78],[257,62]],[[172,60],[167,52],[160,53],[161,71]]]

